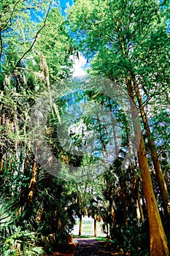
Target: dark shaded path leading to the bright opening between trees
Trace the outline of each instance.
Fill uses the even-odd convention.
[[[107,248],[107,243],[97,241],[93,238],[77,238],[78,248],[75,256],[111,256],[117,255],[115,252],[110,252]]]

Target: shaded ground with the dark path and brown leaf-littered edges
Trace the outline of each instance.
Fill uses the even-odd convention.
[[[117,252],[113,244],[107,241],[98,241],[95,238],[74,238],[73,243],[63,246],[59,252],[54,252],[53,256],[112,256],[123,255],[123,252]],[[130,254],[126,254],[130,255]]]

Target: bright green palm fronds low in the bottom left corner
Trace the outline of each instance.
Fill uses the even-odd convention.
[[[10,205],[0,197],[0,255],[45,255],[42,247],[35,246],[36,233],[15,226],[15,215]]]

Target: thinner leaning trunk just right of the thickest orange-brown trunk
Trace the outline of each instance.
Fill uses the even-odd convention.
[[[146,135],[147,135],[148,146],[150,148],[150,154],[151,154],[151,157],[152,157],[152,162],[153,162],[153,165],[154,165],[155,174],[156,174],[156,178],[157,178],[157,181],[158,181],[158,186],[159,186],[160,191],[161,191],[161,197],[162,197],[162,200],[163,200],[164,214],[166,214],[166,216],[168,216],[170,214],[169,200],[168,200],[169,192],[168,192],[168,189],[166,187],[166,182],[165,182],[164,177],[163,177],[163,173],[162,173],[162,170],[161,170],[161,165],[160,165],[160,162],[159,162],[159,159],[158,159],[158,154],[157,154],[157,151],[155,149],[156,148],[155,143],[152,140],[152,132],[150,131],[150,126],[149,126],[149,123],[148,123],[148,120],[147,120],[147,115],[144,111],[144,106],[143,106],[143,103],[142,103],[142,98],[141,98],[141,95],[140,95],[139,86],[137,85],[135,78],[133,79],[133,81],[134,81],[134,89],[135,89],[135,92],[136,92],[136,97],[137,97],[138,104],[139,104],[139,111],[140,111],[141,116],[142,116],[144,129],[145,129]]]

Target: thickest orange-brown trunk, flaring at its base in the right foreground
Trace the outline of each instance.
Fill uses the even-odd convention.
[[[131,85],[131,77],[128,76],[126,79],[126,84],[128,87],[128,94],[131,97],[134,105],[136,105],[134,99],[134,91]],[[134,133],[136,136],[139,135],[141,127],[136,127],[137,119],[139,116],[136,116],[136,113],[132,108],[132,117],[134,119]],[[150,256],[169,256],[169,247],[166,239],[166,234],[163,230],[163,225],[161,222],[161,217],[158,211],[158,206],[155,199],[154,190],[152,187],[152,181],[150,177],[150,167],[147,162],[146,150],[144,146],[143,136],[141,135],[140,144],[138,148],[138,159],[139,159],[139,169],[142,176],[142,186],[144,190],[144,197],[147,203],[147,216],[150,226]]]

